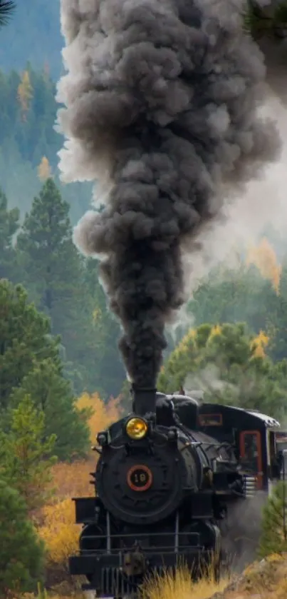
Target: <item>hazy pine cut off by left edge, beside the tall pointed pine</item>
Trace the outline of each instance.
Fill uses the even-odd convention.
[[[19,209],[8,210],[5,193],[0,188],[0,278],[17,278],[16,251],[13,237],[19,228]]]

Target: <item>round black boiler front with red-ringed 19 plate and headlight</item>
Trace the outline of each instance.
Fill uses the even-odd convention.
[[[144,406],[134,407],[138,412]],[[170,402],[163,398],[161,424],[155,422],[155,413],[145,417],[135,413],[98,436],[102,446],[95,473],[98,497],[114,518],[125,523],[163,520],[202,485],[196,448],[176,426],[165,426],[169,410]]]

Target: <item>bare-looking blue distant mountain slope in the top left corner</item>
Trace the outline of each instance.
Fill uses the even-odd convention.
[[[53,80],[62,70],[60,0],[17,0],[9,25],[1,30],[0,69],[19,71],[27,61],[34,68],[49,66]]]

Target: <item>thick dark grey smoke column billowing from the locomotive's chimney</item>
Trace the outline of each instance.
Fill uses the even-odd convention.
[[[184,301],[182,248],[234,188],[276,158],[257,107],[263,58],[231,0],[61,0],[64,181],[110,183],[75,228],[100,255],[127,371],[154,387],[165,324]]]

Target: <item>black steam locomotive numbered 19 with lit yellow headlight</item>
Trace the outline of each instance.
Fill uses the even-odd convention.
[[[182,562],[219,575],[232,514],[281,478],[274,418],[191,395],[133,389],[132,413],[98,434],[96,496],[74,498],[84,590],[122,598]]]

